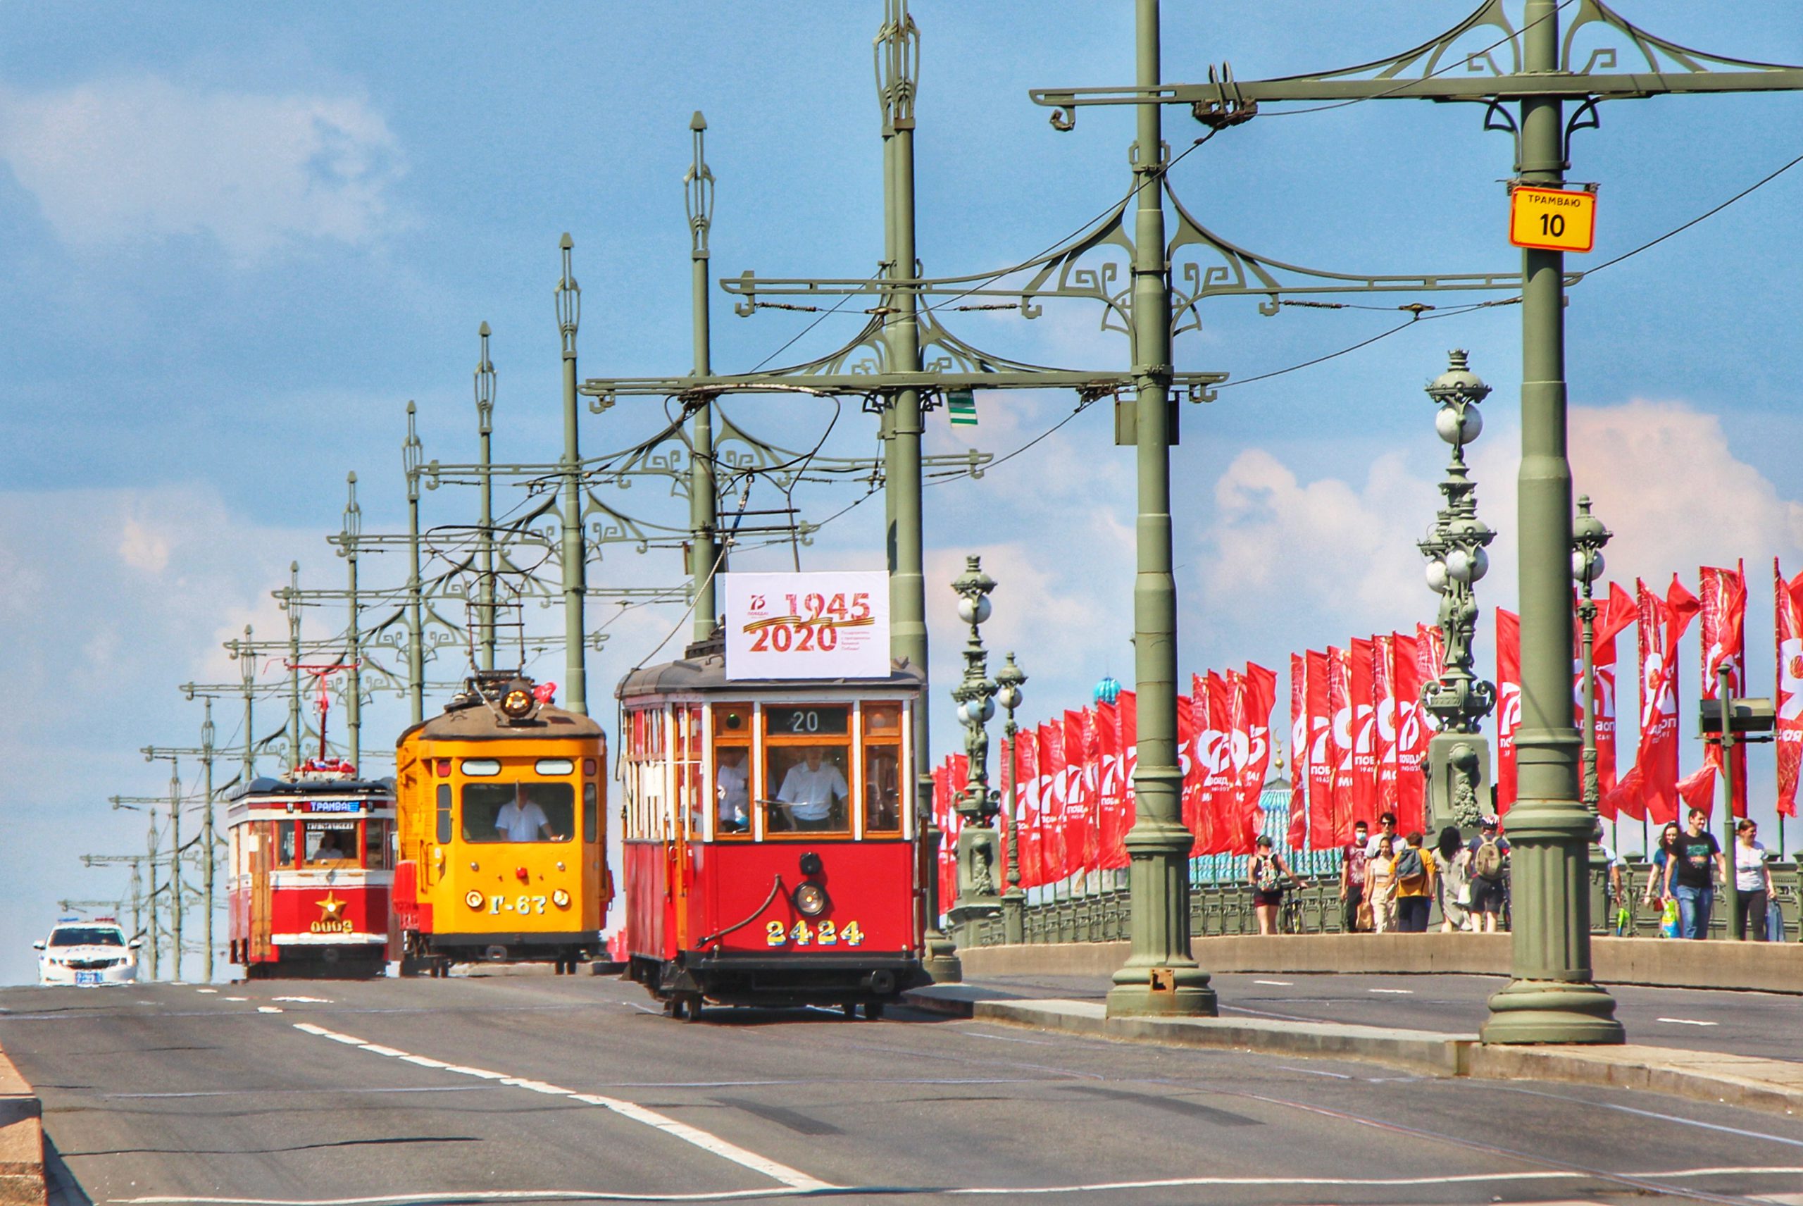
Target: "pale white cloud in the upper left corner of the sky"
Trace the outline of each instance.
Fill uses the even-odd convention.
[[[0,92],[0,157],[72,245],[207,234],[240,261],[296,240],[375,240],[404,171],[362,99],[155,76]]]

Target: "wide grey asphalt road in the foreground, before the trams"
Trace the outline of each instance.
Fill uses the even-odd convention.
[[[1803,1119],[902,1010],[689,1024],[590,975],[0,1010],[65,1202],[1803,1201]]]

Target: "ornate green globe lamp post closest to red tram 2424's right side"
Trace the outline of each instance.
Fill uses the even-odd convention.
[[[963,826],[957,833],[957,905],[950,910],[956,927],[974,927],[979,918],[1001,909],[995,891],[995,831],[990,822],[999,811],[990,790],[990,730],[995,716],[997,683],[988,676],[990,654],[983,647],[981,626],[990,618],[990,591],[995,579],[983,571],[981,557],[965,557],[965,571],[952,580],[957,591],[957,618],[970,626],[965,642],[965,678],[952,689],[957,719],[965,725],[965,757],[970,779],[957,797]]]

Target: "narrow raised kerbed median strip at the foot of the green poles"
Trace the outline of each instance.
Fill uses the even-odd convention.
[[[1803,1116],[1803,1064],[1679,1047],[1486,1047],[1469,1033],[1268,1019],[1111,1019],[1100,1000],[1040,999],[983,984],[905,993],[932,1013],[1123,1042],[1370,1060],[1435,1076],[1615,1085]]]

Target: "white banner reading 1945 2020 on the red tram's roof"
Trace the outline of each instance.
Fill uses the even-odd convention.
[[[889,678],[889,575],[723,573],[727,678]]]

